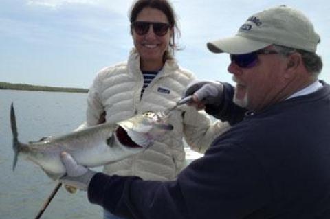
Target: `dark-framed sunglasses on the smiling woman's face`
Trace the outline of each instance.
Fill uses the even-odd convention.
[[[170,25],[168,23],[148,21],[134,21],[131,24],[131,28],[134,29],[138,35],[144,35],[148,33],[151,25],[153,25],[153,32],[157,36],[164,36],[165,34],[167,34],[168,29],[170,29]]]

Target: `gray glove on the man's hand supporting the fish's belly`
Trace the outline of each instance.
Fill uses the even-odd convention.
[[[96,172],[78,164],[71,154],[67,152],[62,152],[61,160],[67,170],[67,174],[60,178],[60,182],[87,191],[89,182]]]

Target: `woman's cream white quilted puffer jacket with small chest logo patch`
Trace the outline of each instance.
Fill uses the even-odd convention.
[[[180,100],[192,80],[192,73],[181,69],[175,60],[168,60],[140,99],[144,79],[140,56],[133,49],[128,62],[106,67],[96,76],[87,100],[87,126],[98,124],[104,111],[107,122],[118,122],[146,111],[164,111]],[[106,165],[104,172],[173,180],[184,166],[183,137],[192,150],[205,152],[213,139],[229,128],[228,123],[221,121],[212,124],[206,113],[188,106],[175,110],[170,119],[174,130],[164,141],[154,143],[142,154]]]

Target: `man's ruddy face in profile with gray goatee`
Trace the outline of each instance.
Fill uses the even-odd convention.
[[[265,48],[274,51],[272,46]],[[234,102],[250,111],[261,111],[263,108],[281,101],[285,89],[284,73],[287,67],[285,57],[275,52],[254,54],[257,58],[252,65],[240,67],[241,56],[235,58],[228,66],[236,82]],[[246,64],[246,63],[245,63]]]

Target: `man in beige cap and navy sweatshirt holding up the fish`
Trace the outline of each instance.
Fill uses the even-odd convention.
[[[95,174],[63,154],[63,183],[88,187],[91,203],[130,218],[330,218],[330,87],[318,81],[319,42],[298,10],[254,14],[236,36],[208,43],[230,54],[236,87],[186,90],[232,128],[177,181]]]

